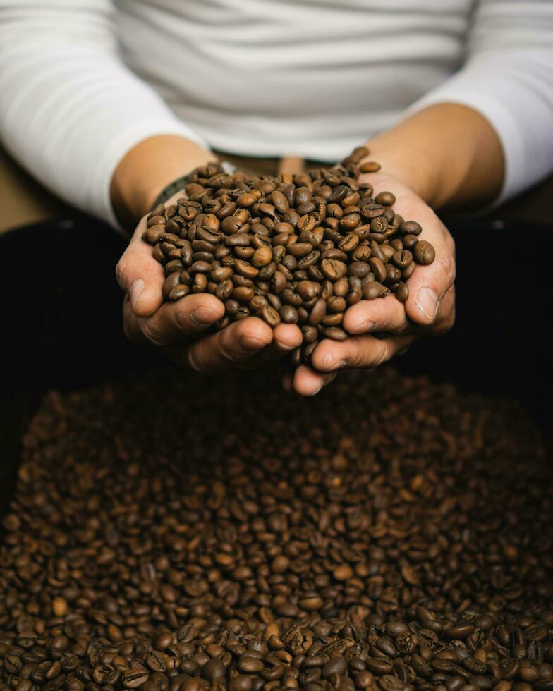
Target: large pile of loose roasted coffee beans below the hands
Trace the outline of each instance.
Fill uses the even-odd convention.
[[[4,516],[0,690],[552,689],[553,469],[518,405],[272,377],[45,398]]]

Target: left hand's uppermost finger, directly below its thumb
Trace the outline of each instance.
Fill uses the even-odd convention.
[[[123,303],[126,336],[135,343],[152,345],[171,345],[181,341],[183,336],[205,331],[223,314],[223,303],[207,293],[165,302],[152,317],[137,317],[129,297]]]

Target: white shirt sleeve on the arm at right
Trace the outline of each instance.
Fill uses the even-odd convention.
[[[553,171],[553,2],[480,0],[458,73],[409,112],[458,103],[487,118],[506,174],[496,204]]]

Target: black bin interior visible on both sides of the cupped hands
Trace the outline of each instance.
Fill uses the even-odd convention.
[[[553,227],[446,219],[457,243],[457,322],[396,360],[403,372],[463,391],[515,396],[550,445],[553,423]],[[0,236],[0,513],[13,489],[20,438],[44,391],[75,389],[163,362],[126,342],[114,267],[125,240],[86,217]]]

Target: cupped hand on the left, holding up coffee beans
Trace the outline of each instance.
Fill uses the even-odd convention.
[[[166,203],[183,196],[178,192]],[[164,270],[152,257],[152,247],[142,240],[145,229],[146,217],[138,224],[116,267],[119,286],[126,293],[124,331],[131,341],[161,346],[176,365],[199,372],[217,372],[231,365],[254,367],[300,345],[298,326],[279,324],[273,330],[257,317],[233,322],[199,338],[223,317],[224,305],[214,295],[203,293],[163,302]]]

